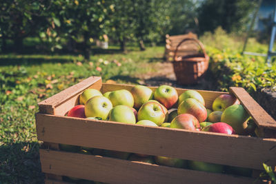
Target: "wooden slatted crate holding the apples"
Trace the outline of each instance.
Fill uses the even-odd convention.
[[[43,141],[39,152],[46,183],[66,183],[61,176],[104,183],[253,183],[263,170],[262,163],[276,165],[276,122],[243,88],[230,88],[230,93],[237,96],[253,116],[264,136],[274,138],[193,132],[64,116],[77,104],[79,94],[87,88],[95,88],[104,93],[119,89],[130,90],[132,85],[101,83],[100,77],[91,76],[39,103],[39,113],[36,114],[37,136],[39,141]],[[179,94],[184,91],[177,89]],[[198,92],[204,96],[206,108],[211,108],[217,96],[226,94],[204,90]],[[255,174],[244,177],[199,172],[63,152],[59,150],[59,143],[248,167]]]

